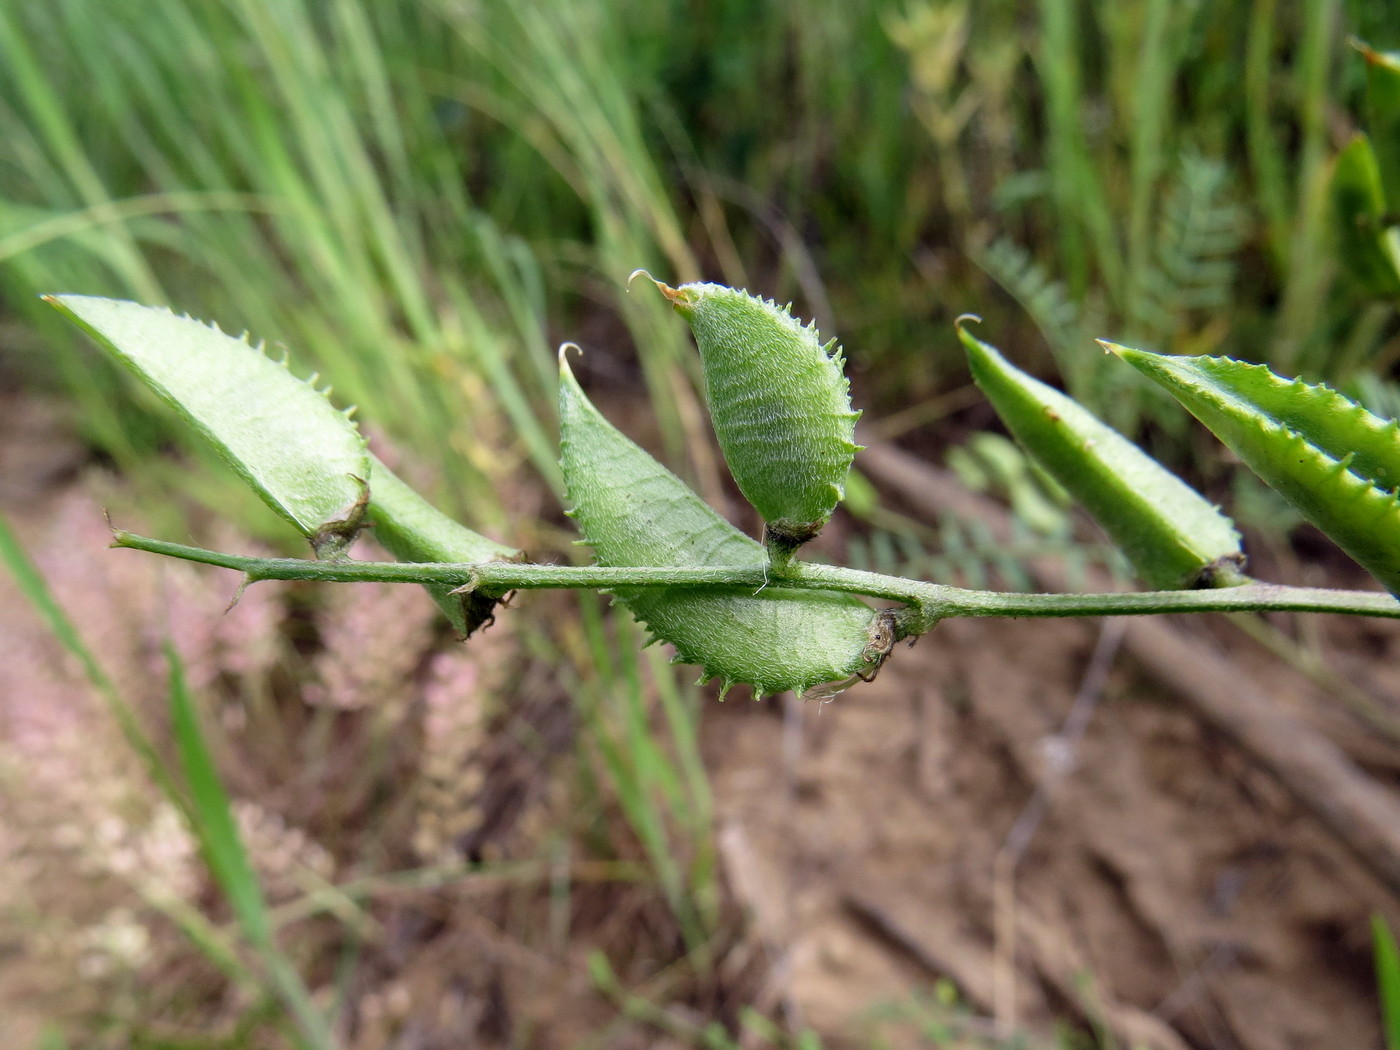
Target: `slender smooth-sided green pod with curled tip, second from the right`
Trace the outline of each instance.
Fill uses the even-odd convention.
[[[1022,448],[1113,538],[1149,587],[1243,582],[1233,524],[1200,493],[960,323],[973,378]]]

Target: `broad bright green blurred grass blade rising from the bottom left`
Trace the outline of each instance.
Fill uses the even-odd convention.
[[[262,886],[248,860],[228,792],[218,778],[199,714],[185,685],[183,665],[169,644],[165,647],[165,659],[169,666],[171,728],[192,802],[190,830],[199,840],[209,869],[227,897],[239,930],[262,958],[269,986],[295,1019],[301,1036],[298,1042],[316,1050],[329,1050],[335,1046],[335,1037],[325,1016],[311,1001],[300,974],[273,942]]]

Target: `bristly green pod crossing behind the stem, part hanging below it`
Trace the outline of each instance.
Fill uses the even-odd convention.
[[[560,445],[570,512],[603,566],[763,567],[763,547],[602,417],[560,358]],[[869,675],[893,645],[889,616],[843,594],[752,588],[617,588],[676,661],[725,690],[806,692]]]

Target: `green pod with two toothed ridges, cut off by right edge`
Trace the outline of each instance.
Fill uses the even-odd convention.
[[[1105,346],[1165,386],[1308,521],[1400,594],[1400,423],[1260,364]]]

